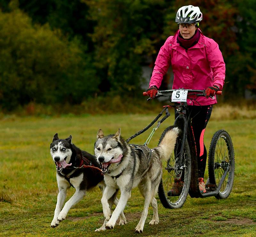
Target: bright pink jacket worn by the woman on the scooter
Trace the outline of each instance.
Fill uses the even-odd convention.
[[[200,30],[200,29],[199,29]],[[217,85],[220,90],[225,80],[225,63],[218,44],[200,31],[199,41],[185,50],[177,43],[179,30],[174,36],[170,36],[161,47],[156,58],[155,67],[149,86],[160,87],[163,76],[170,65],[174,74],[172,89],[196,89],[204,90],[207,87]],[[196,98],[196,97],[194,97]],[[188,105],[209,105],[217,103],[216,97],[206,98],[198,96],[196,103],[187,100]]]

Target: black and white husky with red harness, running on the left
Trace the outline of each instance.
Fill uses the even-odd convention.
[[[56,133],[50,145],[52,159],[56,164],[59,188],[51,227],[58,226],[60,221],[66,218],[69,209],[84,197],[86,190],[98,185],[103,191],[106,187],[100,165],[96,162],[95,156],[77,148],[71,142],[71,139],[71,135],[66,139],[59,139]],[[67,195],[67,189],[71,186],[76,189],[76,192],[61,210]],[[109,205],[112,206],[113,203],[115,205],[118,203],[116,193],[110,198]],[[122,213],[119,225],[125,223],[126,219],[124,213]],[[102,226],[101,229],[105,229],[105,226]]]

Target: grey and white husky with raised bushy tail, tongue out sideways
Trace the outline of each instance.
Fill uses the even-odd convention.
[[[150,203],[153,207],[153,219],[149,224],[158,224],[157,201],[154,196],[162,178],[162,160],[168,160],[170,157],[178,134],[179,129],[173,128],[165,134],[158,147],[149,149],[145,145],[128,144],[120,136],[120,128],[116,134],[108,136],[104,136],[102,130],[99,129],[94,151],[106,183],[101,199],[105,217],[103,226],[106,229],[114,228],[118,216],[123,212],[131,196],[132,188],[137,186],[145,198],[145,203],[135,232],[142,233]],[[121,196],[111,215],[108,199],[117,189],[120,189]],[[103,230],[102,227],[96,231]]]

